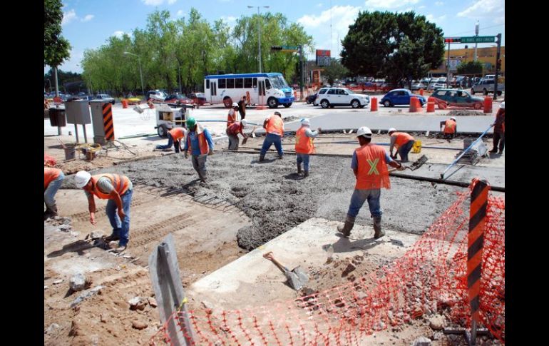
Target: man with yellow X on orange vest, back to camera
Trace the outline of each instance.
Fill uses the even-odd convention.
[[[374,218],[374,238],[380,238],[385,235],[381,230],[381,205],[379,198],[381,188],[391,188],[389,172],[387,165],[404,171],[401,163],[393,161],[386,153],[385,149],[371,142],[371,130],[366,126],[359,128],[356,132],[359,138],[360,148],[353,153],[351,168],[356,177],[354,193],[351,197],[345,225],[337,226],[345,238],[349,238],[354,226],[354,219],[359,214],[364,201],[368,200],[368,208],[371,218]]]

